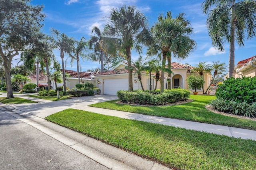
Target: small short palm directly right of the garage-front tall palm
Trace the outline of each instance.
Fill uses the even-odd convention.
[[[144,91],[143,85],[142,85],[142,71],[146,70],[146,64],[145,59],[140,56],[136,61],[132,61],[132,70],[134,71],[134,74],[138,74],[138,80],[140,81],[140,85],[142,90]]]

